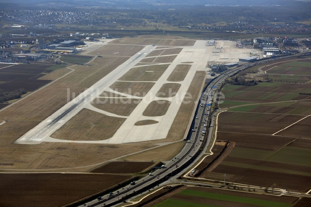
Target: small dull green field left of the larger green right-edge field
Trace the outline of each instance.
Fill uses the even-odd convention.
[[[273,154],[272,151],[234,147],[233,150],[230,152],[229,156],[246,158],[246,159],[263,160],[271,154]]]

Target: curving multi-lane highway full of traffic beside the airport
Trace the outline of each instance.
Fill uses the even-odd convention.
[[[296,56],[296,55],[294,55]],[[294,57],[294,56],[287,56],[285,58]],[[277,58],[281,59],[281,58]],[[219,83],[223,82],[229,76],[234,75],[239,70],[252,67],[254,65],[262,64],[265,62],[269,62],[271,60],[262,60],[258,62],[248,63],[245,65],[241,65],[236,67],[230,71],[226,71],[225,74],[220,74],[219,76],[215,77],[212,82],[207,85],[205,91],[203,91],[200,101],[198,102],[197,111],[193,117],[192,127],[190,128],[189,136],[187,143],[184,145],[183,149],[179,154],[176,155],[176,159],[173,159],[165,164],[165,168],[157,169],[152,172],[151,176],[147,175],[142,179],[136,181],[135,185],[128,185],[124,186],[123,188],[118,189],[117,191],[111,192],[112,194],[102,195],[102,200],[92,200],[87,202],[85,205],[88,206],[107,206],[113,205],[117,200],[120,200],[125,195],[136,195],[137,192],[143,192],[146,188],[153,188],[156,184],[165,184],[167,180],[172,177],[178,177],[185,173],[187,167],[195,162],[197,162],[201,155],[207,150],[208,144],[211,141],[212,131],[214,127],[215,117],[211,115],[211,105],[207,105],[207,103],[215,101],[217,96],[214,96],[216,93],[216,87],[218,87]],[[213,88],[214,86],[214,88]],[[207,126],[208,123],[211,123],[210,126]],[[205,126],[204,126],[205,125]],[[202,134],[202,131],[206,130],[208,133],[207,136]],[[207,138],[206,142],[201,142],[200,139],[203,137]],[[193,155],[197,154],[200,151],[200,147],[202,143],[206,143],[204,146],[201,154],[196,157],[192,162],[188,162],[189,159],[193,157]],[[180,168],[183,170],[180,172]],[[178,173],[178,174],[177,174]],[[177,174],[177,175],[176,175]],[[159,180],[165,180],[164,182],[160,183]],[[81,207],[84,205],[81,205]]]

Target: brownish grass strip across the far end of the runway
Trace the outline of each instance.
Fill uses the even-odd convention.
[[[115,39],[110,44],[129,44],[129,45],[151,45],[156,44],[160,46],[193,46],[195,40],[179,40],[179,39]]]

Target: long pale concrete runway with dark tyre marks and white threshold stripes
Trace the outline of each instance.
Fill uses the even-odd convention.
[[[63,126],[69,119],[75,116],[82,108],[89,104],[93,99],[99,96],[105,88],[109,87],[114,81],[126,73],[132,66],[138,63],[142,58],[144,58],[148,53],[150,53],[154,46],[146,46],[139,53],[129,58],[126,62],[118,66],[107,76],[100,79],[90,88],[85,90],[76,98],[72,99],[70,102],[65,104],[62,108],[57,110],[51,116],[42,121],[35,128],[28,131],[21,138],[16,140],[15,144],[40,144],[45,139]],[[67,94],[68,95],[68,94]]]

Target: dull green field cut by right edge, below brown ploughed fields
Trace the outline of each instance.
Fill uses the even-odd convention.
[[[311,167],[311,149],[286,146],[264,160]]]

